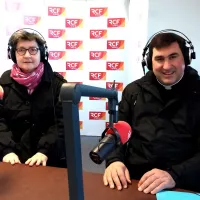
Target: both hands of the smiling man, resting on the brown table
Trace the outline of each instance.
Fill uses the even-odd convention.
[[[118,190],[127,188],[131,184],[129,171],[122,162],[110,164],[104,173],[103,182],[110,188],[117,187]],[[138,190],[144,193],[156,194],[157,192],[175,187],[176,183],[171,175],[160,169],[152,169],[146,172],[138,182]]]

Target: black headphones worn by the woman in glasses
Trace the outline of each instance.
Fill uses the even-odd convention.
[[[49,54],[48,54],[48,47],[47,47],[46,40],[44,39],[44,37],[42,36],[41,33],[39,33],[38,31],[36,31],[35,29],[32,29],[32,28],[19,29],[19,30],[15,31],[10,36],[10,39],[8,41],[8,49],[7,49],[7,51],[8,51],[8,58],[12,59],[12,61],[14,63],[17,63],[16,56],[15,56],[15,49],[14,49],[13,44],[12,44],[12,38],[19,31],[28,31],[28,32],[32,32],[32,33],[37,34],[37,35],[40,36],[40,38],[44,41],[44,45],[39,46],[39,48],[40,48],[40,59],[41,59],[41,62],[48,61]]]

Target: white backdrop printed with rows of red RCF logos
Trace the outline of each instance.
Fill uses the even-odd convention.
[[[69,82],[108,89],[115,80],[120,100],[124,87],[143,75],[147,2],[40,0],[36,4],[35,0],[1,0],[1,19],[5,20],[0,24],[0,74],[12,67],[6,52],[10,35],[19,28],[33,28],[46,39],[55,71]],[[101,135],[108,122],[106,102],[81,98],[82,135]]]

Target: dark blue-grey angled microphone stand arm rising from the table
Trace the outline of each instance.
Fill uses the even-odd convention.
[[[112,127],[113,122],[117,122],[116,105],[118,104],[118,93],[114,90],[114,85],[111,90],[74,83],[64,83],[61,87],[60,99],[63,108],[70,200],[84,200],[78,109],[81,96],[108,98],[109,127]]]

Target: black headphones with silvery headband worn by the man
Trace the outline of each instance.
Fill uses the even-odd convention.
[[[196,53],[194,51],[194,46],[192,45],[192,42],[190,41],[190,39],[183,34],[180,31],[174,30],[174,29],[164,29],[161,31],[156,32],[154,35],[152,35],[149,40],[147,41],[144,49],[143,49],[143,53],[142,53],[142,68],[143,68],[143,72],[145,74],[145,66],[147,66],[147,68],[149,70],[152,70],[152,55],[149,55],[149,46],[151,44],[152,39],[160,34],[160,33],[178,33],[181,34],[182,37],[178,34],[176,34],[178,37],[182,38],[185,41],[185,46],[182,50],[183,56],[184,56],[184,60],[185,60],[185,66],[188,66],[191,63],[192,59],[196,59]],[[189,47],[186,46],[186,44],[189,44]],[[147,52],[148,51],[148,52]]]

